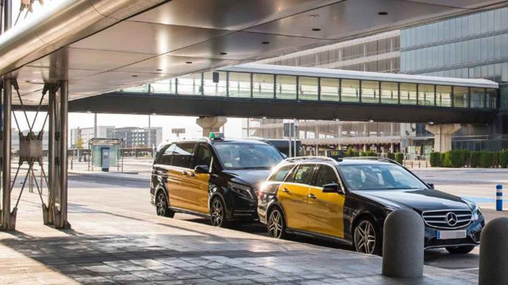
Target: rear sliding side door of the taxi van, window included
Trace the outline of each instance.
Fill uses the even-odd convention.
[[[189,197],[191,173],[193,172],[190,169],[190,163],[195,146],[194,142],[177,143],[173,150],[169,170],[171,180],[169,202],[172,207],[196,211],[196,202]]]

